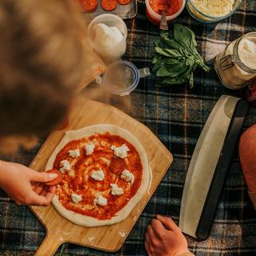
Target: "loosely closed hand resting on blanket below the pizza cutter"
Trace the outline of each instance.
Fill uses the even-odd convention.
[[[157,215],[147,226],[145,248],[149,256],[175,256],[189,252],[185,236],[169,217]]]

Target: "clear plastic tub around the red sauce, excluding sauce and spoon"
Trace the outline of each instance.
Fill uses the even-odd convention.
[[[166,16],[167,22],[170,22],[172,19],[176,18],[179,14],[182,13],[182,10],[184,9],[186,4],[186,0],[181,0],[181,2],[182,2],[182,7],[178,10],[177,13],[170,16]],[[148,20],[154,25],[160,25],[162,16],[154,12],[154,10],[150,6],[149,0],[145,0],[145,3],[146,3],[146,17],[148,18]]]

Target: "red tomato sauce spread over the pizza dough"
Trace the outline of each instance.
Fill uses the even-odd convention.
[[[94,139],[97,139],[101,145],[97,143],[94,153],[86,156],[84,146]],[[102,142],[106,143],[106,145],[102,145]],[[132,185],[130,185],[130,182],[126,182],[120,178],[120,175],[111,172],[109,164],[106,163],[106,159],[111,162],[115,158],[110,146],[122,146],[122,144],[126,144],[129,148],[125,161],[126,169],[134,174],[134,183]],[[71,158],[68,151],[77,148],[80,148],[80,157]],[[105,161],[102,157],[105,158]],[[72,210],[78,214],[100,220],[110,219],[126,206],[127,202],[136,194],[141,185],[142,162],[139,154],[130,142],[127,142],[126,139],[120,136],[109,133],[94,134],[87,138],[69,142],[58,153],[54,161],[54,168],[59,169],[60,162],[64,159],[69,162],[76,161],[74,164],[74,177],[68,171],[63,174],[62,184],[57,190],[58,198],[67,210]],[[103,181],[96,181],[90,177],[92,171],[98,169],[101,169],[105,174]],[[110,194],[110,183],[117,183],[119,187],[122,187],[124,194],[115,196]],[[94,206],[95,192],[97,191],[101,191],[104,198],[107,198],[106,206]],[[70,194],[72,193],[82,195],[82,201],[74,204],[70,198]]]

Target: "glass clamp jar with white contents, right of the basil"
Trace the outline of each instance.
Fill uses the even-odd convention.
[[[250,86],[256,80],[256,32],[230,42],[214,61],[222,85],[232,90]]]

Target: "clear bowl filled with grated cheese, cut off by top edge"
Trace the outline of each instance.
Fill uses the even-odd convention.
[[[188,0],[186,9],[199,22],[218,22],[234,14],[242,0]]]

